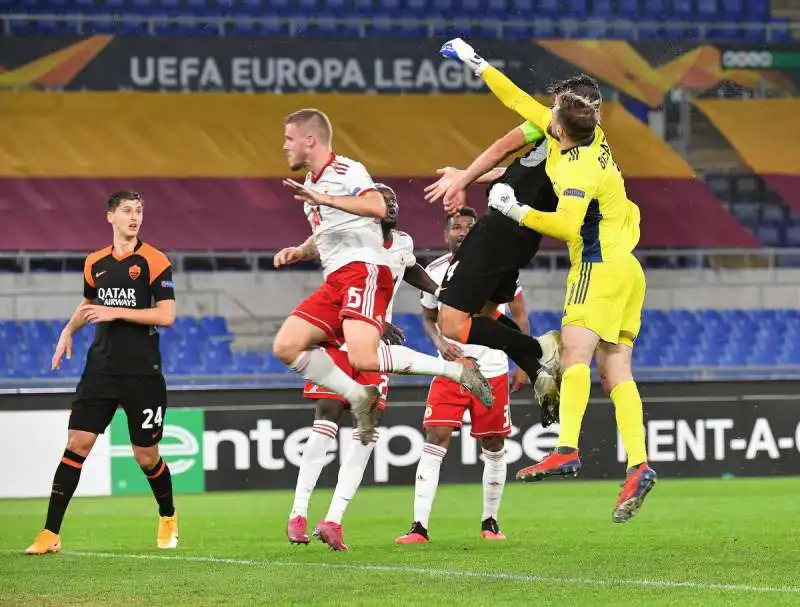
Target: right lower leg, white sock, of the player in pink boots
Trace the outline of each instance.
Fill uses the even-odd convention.
[[[376,430],[372,435],[372,440],[364,445],[360,440],[358,430],[353,431],[353,441],[339,468],[339,479],[336,482],[328,514],[314,530],[314,535],[328,544],[332,550],[347,550],[347,545],[344,543],[342,519],[356,491],[361,486],[364,470],[366,470],[369,458],[375,449],[375,443],[378,442],[379,434],[379,431]]]

